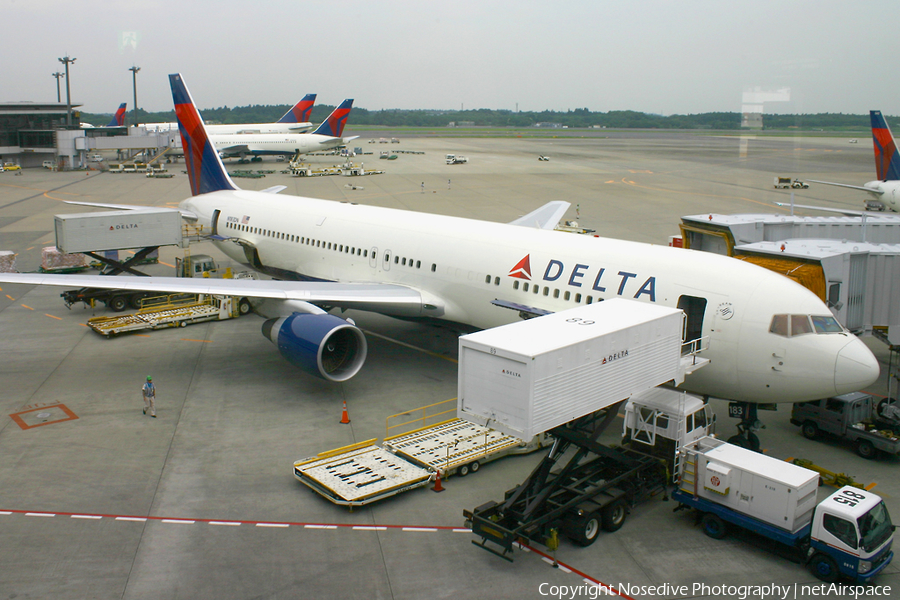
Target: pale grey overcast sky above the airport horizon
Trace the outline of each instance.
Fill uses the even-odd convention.
[[[897,0],[0,0],[0,102],[900,115]],[[65,79],[62,101],[66,100]],[[777,93],[776,93],[777,92]],[[788,100],[789,98],[789,100]],[[780,99],[780,100],[774,100]]]

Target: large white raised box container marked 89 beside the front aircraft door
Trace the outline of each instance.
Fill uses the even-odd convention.
[[[680,383],[683,320],[678,309],[612,299],[462,336],[457,415],[530,440]]]

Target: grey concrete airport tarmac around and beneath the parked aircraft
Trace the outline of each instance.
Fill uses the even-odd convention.
[[[361,137],[351,145],[374,152],[353,162],[385,174],[276,172],[235,181],[500,222],[565,200],[572,204],[565,218],[599,235],[666,244],[682,215],[784,212],[772,205],[790,199],[773,189],[776,175],[862,184],[874,171],[871,146],[848,144],[849,136],[352,134]],[[392,135],[400,144],[368,143]],[[398,149],[424,154],[378,159]],[[446,165],[447,153],[469,162]],[[189,194],[182,169],[182,162],[169,165],[171,179],[2,173],[0,250],[18,253],[20,271],[36,270],[41,248],[54,244],[53,215],[88,210],[63,201],[175,206]],[[795,196],[843,208],[865,200],[815,184]],[[209,243],[191,251],[223,256]],[[171,275],[180,252],[163,248],[160,264],[147,271]],[[588,548],[563,540],[558,568],[538,552],[517,551],[507,562],[476,548],[462,511],[501,500],[537,463],[535,454],[452,477],[443,493],[418,489],[352,512],[294,479],[293,461],[383,438],[389,415],[455,397],[457,332],[450,329],[348,313],[367,334],[368,360],[355,378],[332,384],[291,367],[253,315],[106,339],[85,326],[93,314],[111,314],[105,308],[68,310],[60,288],[0,287],[0,598],[520,599],[552,597],[560,586],[569,586],[567,597],[589,598],[597,594],[574,588],[597,582],[640,600],[852,597],[813,587],[821,582],[762,544],[708,538],[687,512],[673,514],[661,499],[639,505],[619,532]],[[867,343],[882,362],[881,380],[867,391],[884,396],[888,353]],[[156,419],[141,412],[147,375],[158,388]],[[344,401],[349,424],[339,423]],[[718,432],[730,436],[726,404],[712,405]],[[789,405],[761,413],[767,453],[877,484],[874,491],[900,518],[896,458],[867,461],[849,446],[807,440],[789,413]],[[620,424],[614,427],[605,441],[615,441]],[[898,573],[895,562],[875,581],[893,592],[870,589],[896,597]],[[788,589],[735,587],[776,585]]]

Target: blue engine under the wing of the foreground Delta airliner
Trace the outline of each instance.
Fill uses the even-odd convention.
[[[327,313],[269,319],[262,332],[288,362],[328,381],[350,379],[366,361],[362,331]]]

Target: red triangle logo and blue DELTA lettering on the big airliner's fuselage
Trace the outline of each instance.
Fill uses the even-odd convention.
[[[531,281],[531,255],[526,254],[522,260],[517,262],[510,270],[509,276]],[[590,284],[588,289],[595,292],[603,293],[609,289],[617,296],[631,296],[635,300],[646,299],[656,302],[656,276],[644,278],[638,273],[628,271],[617,271],[613,274],[612,269],[606,267],[594,269],[591,265],[581,263],[570,268],[563,261],[551,258],[547,262],[541,279],[548,282],[562,282],[565,285],[581,289]],[[641,281],[643,283],[632,295],[635,285]],[[615,291],[613,292],[613,290]]]

